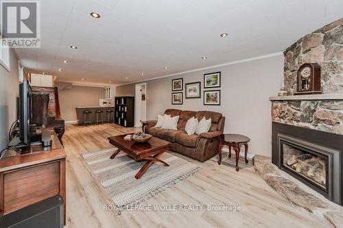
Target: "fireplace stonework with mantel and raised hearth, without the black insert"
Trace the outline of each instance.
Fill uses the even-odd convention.
[[[320,136],[329,134],[342,141],[343,137],[343,18],[317,29],[294,42],[284,51],[284,85],[288,96],[270,97],[273,125],[300,127]],[[304,63],[318,63],[321,66],[322,94],[294,95],[299,66]],[[310,134],[310,135],[311,135]],[[314,137],[314,135],[311,135]],[[310,137],[311,137],[310,136]],[[310,139],[311,140],[311,139]],[[332,139],[324,138],[320,144]],[[275,140],[277,142],[277,140]],[[329,147],[329,145],[328,145]],[[341,147],[342,148],[342,147]],[[273,152],[277,151],[273,145]],[[337,156],[337,155],[336,155]],[[340,197],[327,194],[332,201],[342,205],[342,153],[340,153]],[[343,227],[343,207],[322,199],[312,192],[304,182],[294,179],[278,166],[278,157],[255,155],[255,170],[274,190],[293,205],[303,207],[318,218],[327,220],[333,227]],[[337,162],[337,158],[335,161]],[[275,166],[274,164],[278,166]],[[336,175],[337,178],[337,175]],[[336,185],[337,186],[337,185]],[[332,188],[332,187],[331,187]],[[335,188],[335,187],[333,187]],[[323,197],[324,198],[324,197]],[[340,198],[340,199],[338,199]],[[339,202],[340,201],[340,202]]]

